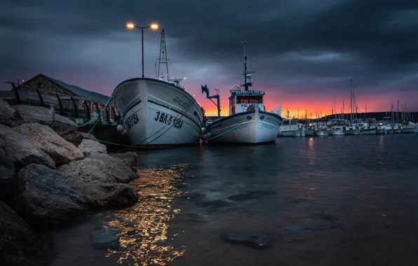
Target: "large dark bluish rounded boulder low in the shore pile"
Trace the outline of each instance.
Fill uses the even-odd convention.
[[[30,225],[60,225],[83,214],[86,198],[65,174],[43,165],[28,165],[18,172],[19,194],[9,206]]]

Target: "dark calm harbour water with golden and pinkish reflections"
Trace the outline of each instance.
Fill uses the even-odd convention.
[[[54,232],[51,265],[418,265],[418,134],[140,158],[140,202]],[[95,232],[110,248],[92,242]],[[271,246],[231,244],[221,232],[267,233]]]

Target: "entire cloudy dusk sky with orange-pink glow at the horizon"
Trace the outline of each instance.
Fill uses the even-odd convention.
[[[0,80],[38,73],[102,94],[141,76],[141,32],[166,31],[169,72],[186,77],[198,103],[220,90],[228,115],[232,85],[243,84],[243,45],[253,90],[282,115],[345,112],[350,79],[359,111],[418,111],[417,0],[1,0]],[[160,31],[144,30],[145,76],[154,78]],[[1,89],[8,89],[1,85]],[[401,105],[400,105],[401,106]],[[309,115],[308,115],[309,116]]]

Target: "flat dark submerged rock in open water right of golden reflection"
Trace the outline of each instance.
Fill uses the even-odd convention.
[[[252,248],[267,248],[270,246],[270,237],[264,232],[222,232],[224,241],[250,246]]]

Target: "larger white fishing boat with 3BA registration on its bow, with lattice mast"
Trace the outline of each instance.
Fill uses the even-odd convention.
[[[130,144],[134,146],[176,146],[201,139],[203,109],[189,94],[185,78],[168,74],[165,31],[161,31],[160,64],[166,75],[130,78],[116,86],[113,96]],[[166,78],[166,80],[164,79]]]

